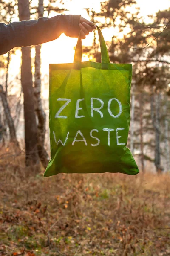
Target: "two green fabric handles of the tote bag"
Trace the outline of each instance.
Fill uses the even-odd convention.
[[[99,34],[102,63],[110,63],[108,49],[105,44],[105,39],[103,38],[102,32],[98,26],[97,26],[97,30],[98,30],[98,34]],[[81,62],[82,62],[82,39],[79,34],[77,46],[75,49],[74,63],[81,63]]]

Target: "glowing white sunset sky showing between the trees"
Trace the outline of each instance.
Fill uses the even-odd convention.
[[[35,5],[38,4],[38,0],[32,1]],[[44,6],[48,4],[48,0],[44,1]],[[100,11],[100,2],[101,0],[66,0],[64,4],[61,5],[68,11],[65,11],[64,14],[74,14],[74,15],[82,15],[82,17],[87,18],[90,20],[88,13],[86,12],[85,8],[94,8],[96,12]],[[105,1],[102,1],[105,2]],[[162,1],[155,1],[155,0],[136,0],[138,6],[140,7],[140,15],[144,17],[146,22],[149,22],[149,17],[147,15],[151,15],[154,12],[158,12],[159,10],[168,9],[170,6],[170,0],[162,0]],[[58,5],[58,3],[57,3]],[[130,10],[132,12],[132,10]],[[51,12],[49,17],[57,15],[54,12]],[[44,14],[44,17],[45,14]],[[17,21],[18,17],[12,19],[12,21]],[[103,36],[105,41],[111,41],[111,37],[113,35],[112,28],[105,28],[102,29]],[[116,33],[117,37],[121,38],[121,34]],[[92,46],[93,45],[94,34],[90,33],[86,39],[82,41],[83,46]],[[46,77],[48,82],[48,71],[49,71],[49,63],[71,63],[74,59],[74,47],[77,44],[77,38],[69,38],[62,34],[58,39],[42,44],[42,64],[41,64],[41,72],[42,72],[42,79]],[[31,50],[32,57],[34,57],[35,49]],[[92,58],[92,57],[90,57]],[[86,54],[82,56],[82,61],[88,61],[89,58]],[[92,61],[92,59],[90,59]],[[20,61],[21,61],[21,52],[20,49],[15,52],[15,55],[11,58],[11,63],[9,66],[9,73],[11,77],[11,81],[14,80],[16,74],[20,73]],[[33,70],[34,71],[34,70]],[[2,75],[2,74],[1,74]],[[2,76],[1,76],[2,77]],[[2,78],[1,78],[2,79]],[[9,78],[10,79],[10,78]],[[2,83],[2,82],[1,82]],[[13,87],[11,90],[11,94],[16,93],[17,88]],[[48,98],[48,89],[44,90],[42,88],[42,97],[47,99]]]

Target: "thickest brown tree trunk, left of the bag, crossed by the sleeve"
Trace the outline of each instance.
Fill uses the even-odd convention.
[[[18,0],[19,18],[30,19],[29,1]],[[37,123],[34,111],[34,92],[31,71],[31,49],[22,47],[21,85],[24,95],[26,165],[38,163],[37,154]]]

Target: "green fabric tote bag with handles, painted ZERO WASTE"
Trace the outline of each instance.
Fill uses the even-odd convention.
[[[102,63],[50,64],[51,160],[44,177],[65,173],[139,172],[126,147],[130,125],[131,64],[112,64],[97,27]]]

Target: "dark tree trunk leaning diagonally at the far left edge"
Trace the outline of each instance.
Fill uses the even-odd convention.
[[[18,147],[19,144],[17,142],[15,127],[14,127],[14,121],[13,121],[12,116],[11,116],[11,111],[10,111],[10,108],[9,108],[9,105],[8,105],[6,92],[3,91],[3,86],[1,84],[0,84],[0,96],[1,96],[1,99],[2,99],[3,109],[4,109],[4,112],[5,112],[6,120],[7,120],[8,127],[9,127],[10,142],[16,144],[17,147]]]

